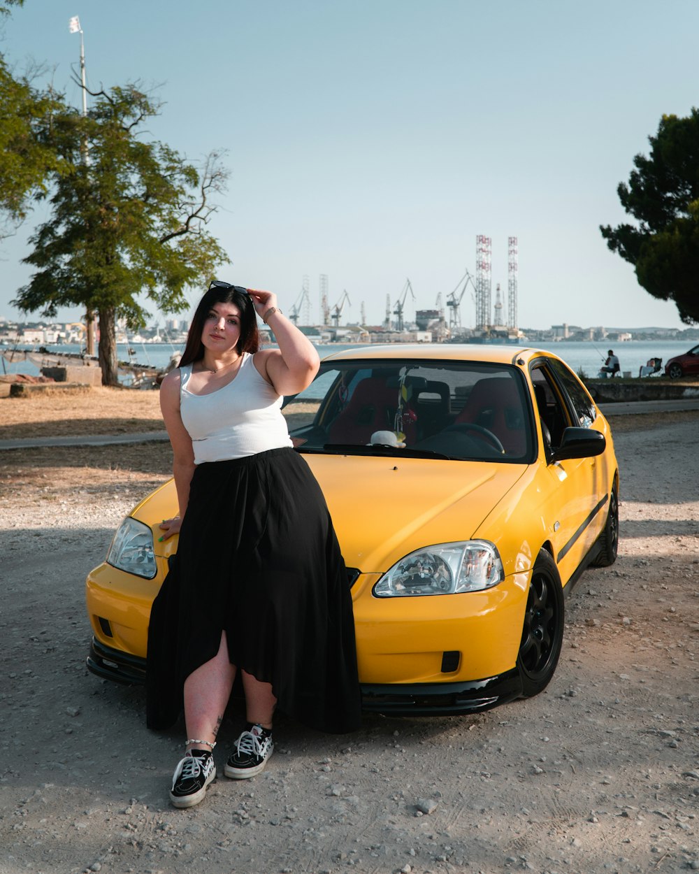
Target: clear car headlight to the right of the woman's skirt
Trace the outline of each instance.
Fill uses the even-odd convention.
[[[411,552],[384,573],[377,598],[481,592],[505,579],[502,560],[488,540],[437,544]]]

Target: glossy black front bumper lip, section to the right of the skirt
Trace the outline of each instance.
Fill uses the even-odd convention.
[[[461,683],[363,684],[362,709],[387,716],[455,716],[479,713],[522,695],[519,671],[513,668],[485,680]]]

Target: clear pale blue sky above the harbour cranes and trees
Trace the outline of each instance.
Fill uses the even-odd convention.
[[[157,86],[154,138],[227,150],[219,278],[288,310],[308,275],[316,321],[327,274],[343,320],[363,303],[380,323],[406,279],[410,317],[474,274],[477,234],[506,299],[516,236],[521,327],[682,327],[599,225],[626,219],[617,185],[661,115],[699,104],[696,0],[25,0],[2,51],[80,106],[75,15],[91,87]],[[0,244],[0,316],[18,316],[29,232]],[[461,304],[473,327],[470,290]]]

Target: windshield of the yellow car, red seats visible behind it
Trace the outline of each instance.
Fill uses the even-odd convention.
[[[529,463],[533,413],[506,364],[329,361],[284,406],[301,452]]]

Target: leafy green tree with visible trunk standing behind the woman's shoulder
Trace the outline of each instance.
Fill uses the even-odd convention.
[[[55,316],[62,306],[96,314],[104,385],[117,385],[116,320],[142,328],[140,295],[164,312],[188,307],[185,291],[228,261],[206,230],[225,190],[221,156],[201,170],[141,128],[159,111],[136,85],[93,94],[86,116],[66,109],[50,141],[69,172],[53,174],[52,214],[31,236],[37,268],[13,303]]]

